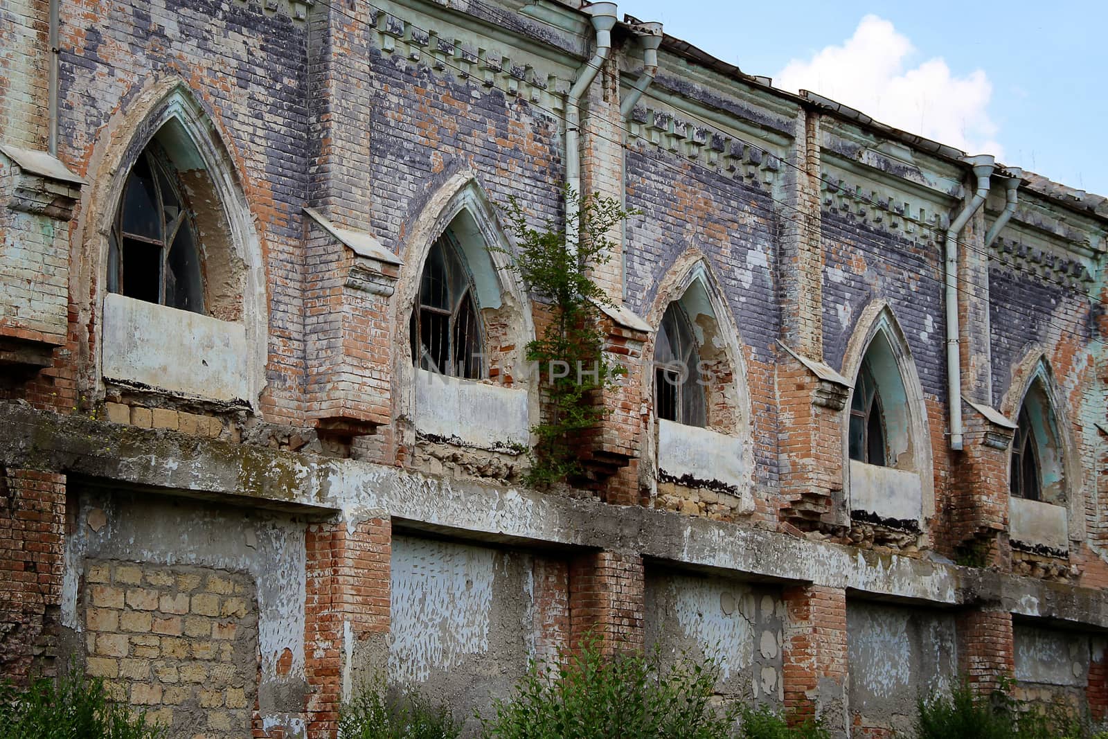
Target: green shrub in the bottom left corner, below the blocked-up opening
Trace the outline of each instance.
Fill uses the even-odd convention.
[[[20,690],[0,686],[0,739],[155,739],[164,727],[113,702],[99,678],[41,678]]]

